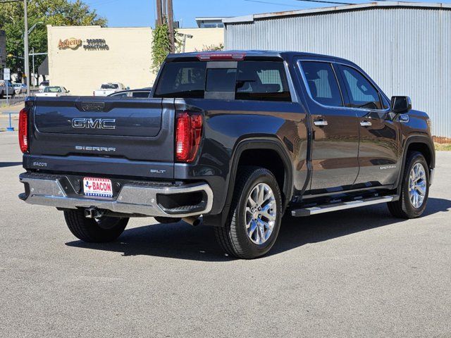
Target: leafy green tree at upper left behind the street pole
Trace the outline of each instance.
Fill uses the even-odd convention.
[[[47,51],[46,25],[101,25],[106,26],[106,19],[81,0],[29,0],[28,26],[37,24],[29,36],[30,51]],[[23,56],[23,3],[0,3],[0,30],[6,31],[6,52],[13,56]],[[37,56],[35,63],[39,65],[45,56]],[[13,72],[23,72],[23,60],[17,57],[8,58],[7,65]],[[31,68],[30,68],[31,69]]]

